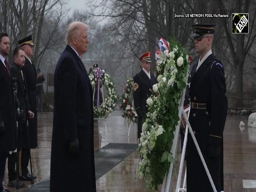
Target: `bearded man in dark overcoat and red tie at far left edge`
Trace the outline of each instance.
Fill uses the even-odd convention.
[[[14,151],[15,143],[15,104],[12,74],[6,61],[10,52],[7,33],[0,32],[0,192],[3,189],[3,177],[6,158],[9,151]]]

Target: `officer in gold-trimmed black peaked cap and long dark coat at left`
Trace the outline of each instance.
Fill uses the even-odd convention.
[[[37,88],[36,88],[36,70],[35,66],[31,61],[34,51],[34,43],[32,41],[32,35],[29,35],[26,38],[18,41],[19,45],[24,49],[26,54],[25,65],[22,68],[23,75],[26,81],[27,96],[29,98],[30,110],[34,113],[33,119],[28,119],[29,122],[29,141],[30,148],[37,148],[37,112],[36,112],[36,97],[37,97]],[[29,151],[21,151],[21,172],[20,180],[31,180],[31,175],[28,170],[29,165]],[[33,175],[33,179],[36,179],[36,176]]]

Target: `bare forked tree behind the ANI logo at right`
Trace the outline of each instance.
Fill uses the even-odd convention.
[[[218,0],[218,5],[221,8],[221,12],[231,15],[231,13],[253,13],[250,14],[250,32],[249,34],[232,34],[232,26],[230,25],[230,20],[221,19],[222,25],[224,27],[224,32],[226,34],[227,43],[229,45],[231,58],[233,60],[233,68],[235,69],[235,88],[236,96],[243,96],[243,69],[244,61],[253,45],[256,38],[254,21],[256,18],[256,2],[255,0],[236,0],[235,3],[224,2]]]

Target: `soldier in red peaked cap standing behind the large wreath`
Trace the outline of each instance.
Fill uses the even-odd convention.
[[[134,107],[138,115],[138,133],[140,138],[142,132],[142,121],[145,114],[148,113],[146,100],[151,96],[152,87],[156,84],[154,73],[150,73],[151,52],[145,52],[141,57],[142,70],[134,77]]]

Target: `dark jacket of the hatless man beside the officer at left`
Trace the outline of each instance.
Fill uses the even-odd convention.
[[[28,132],[26,128],[26,120],[28,119],[27,112],[30,110],[30,105],[29,105],[29,99],[26,93],[26,81],[21,76],[21,68],[16,64],[13,63],[12,66],[10,67],[10,70],[12,72],[12,77],[16,78],[17,82],[17,99],[19,101],[19,108],[20,112],[23,112],[25,115],[25,119],[21,120],[18,119],[18,130],[19,130],[19,147],[22,148],[29,148],[29,137],[28,137]],[[16,102],[17,105],[17,102]],[[17,106],[16,106],[17,108]]]

